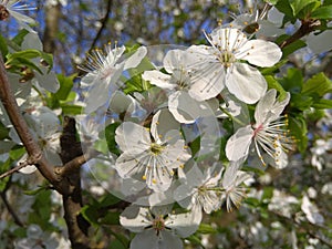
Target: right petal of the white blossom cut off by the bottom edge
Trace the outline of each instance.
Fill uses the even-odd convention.
[[[167,228],[170,228],[181,238],[187,238],[193,235],[201,221],[201,214],[198,211],[189,211],[179,215],[169,215],[165,221]]]

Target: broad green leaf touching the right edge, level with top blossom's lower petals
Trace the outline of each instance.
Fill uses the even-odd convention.
[[[323,96],[332,92],[332,81],[324,73],[319,73],[309,79],[302,89],[303,94]]]

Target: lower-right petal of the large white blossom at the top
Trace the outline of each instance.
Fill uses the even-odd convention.
[[[226,86],[238,100],[255,104],[267,92],[268,84],[260,72],[245,63],[235,63],[226,75]]]

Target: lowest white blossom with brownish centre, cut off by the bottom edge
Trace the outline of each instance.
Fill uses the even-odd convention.
[[[186,238],[198,229],[200,220],[193,212],[170,215],[170,207],[129,206],[120,216],[120,222],[137,235],[131,249],[181,249],[179,237]]]

